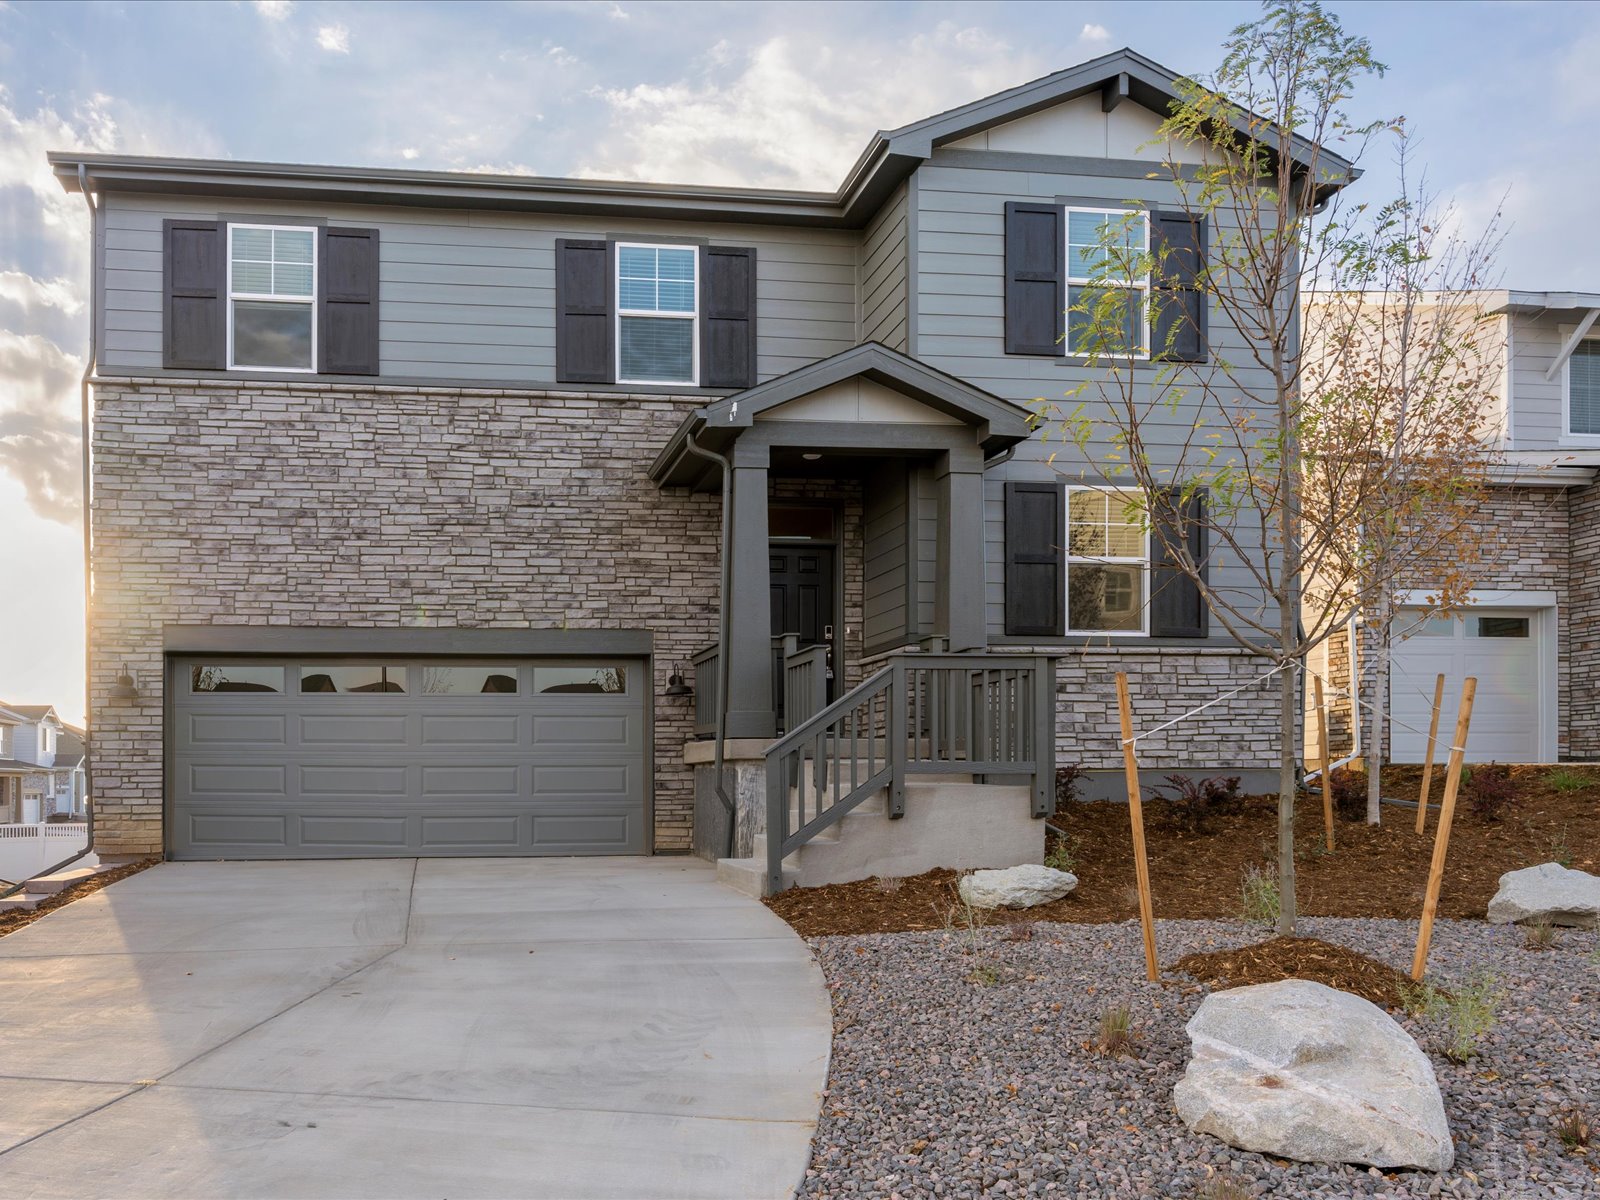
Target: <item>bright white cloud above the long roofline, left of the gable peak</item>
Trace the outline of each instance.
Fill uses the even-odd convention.
[[[718,43],[688,77],[595,88],[611,125],[576,174],[832,189],[875,126],[1040,74],[1037,54],[954,22],[891,58],[867,40],[824,34],[773,37],[742,56]]]

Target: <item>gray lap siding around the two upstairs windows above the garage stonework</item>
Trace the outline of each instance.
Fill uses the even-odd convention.
[[[462,382],[555,379],[555,240],[696,238],[757,253],[757,374],[856,344],[861,234],[550,213],[106,197],[101,366],[162,366],[162,221],[315,219],[379,230],[381,373]]]

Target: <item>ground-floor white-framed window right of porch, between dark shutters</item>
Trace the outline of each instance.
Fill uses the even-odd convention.
[[[1150,531],[1138,491],[1067,488],[1067,632],[1139,635],[1150,611]]]

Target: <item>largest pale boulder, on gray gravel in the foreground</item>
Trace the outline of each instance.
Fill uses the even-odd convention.
[[[1307,1163],[1454,1162],[1434,1064],[1358,995],[1309,979],[1213,992],[1189,1040],[1173,1099],[1197,1133]]]

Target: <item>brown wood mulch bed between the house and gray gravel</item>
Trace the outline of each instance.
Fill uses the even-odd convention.
[[[1587,787],[1560,792],[1550,768],[1512,768],[1517,798],[1501,821],[1483,821],[1467,806],[1456,811],[1438,915],[1482,920],[1507,870],[1565,854],[1578,870],[1600,874],[1600,771]],[[1384,771],[1387,795],[1414,797],[1421,768]],[[1435,803],[1443,784],[1435,774]],[[1213,814],[1200,832],[1184,826],[1166,800],[1147,800],[1146,842],[1150,890],[1160,918],[1238,917],[1240,878],[1246,867],[1277,859],[1277,800],[1250,797],[1237,811]],[[986,925],[1019,920],[1123,922],[1139,915],[1133,882],[1133,835],[1125,803],[1074,803],[1050,819],[1051,842],[1064,838],[1075,861],[1077,891],[1024,912],[981,914]],[[1389,917],[1414,920],[1434,854],[1437,811],[1416,835],[1416,811],[1384,806],[1382,824],[1336,821],[1334,853],[1322,851],[1322,800],[1296,805],[1296,896],[1304,917]],[[891,882],[795,888],[770,898],[768,907],[806,938],[850,933],[938,930],[958,912],[954,870]],[[955,910],[955,912],[952,912]]]

